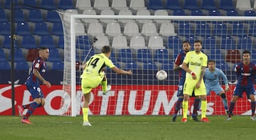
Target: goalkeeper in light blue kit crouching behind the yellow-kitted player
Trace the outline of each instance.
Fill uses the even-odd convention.
[[[220,86],[219,79],[222,77],[225,83],[225,91]],[[206,85],[206,93],[207,95],[210,95],[210,91],[215,92],[217,95],[220,95],[223,101],[223,106],[225,108],[225,113],[228,112],[228,101],[227,97],[225,95],[225,92],[230,90],[230,87],[228,86],[228,78],[224,74],[222,70],[219,68],[216,68],[216,64],[214,60],[208,61],[208,68],[206,68],[206,72],[204,75],[204,81]]]

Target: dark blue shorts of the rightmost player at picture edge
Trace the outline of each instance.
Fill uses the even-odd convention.
[[[245,86],[237,85],[235,87],[233,95],[242,97],[243,92],[245,92],[247,95],[247,98],[250,99],[250,95],[255,95],[255,88],[253,86],[245,87]]]

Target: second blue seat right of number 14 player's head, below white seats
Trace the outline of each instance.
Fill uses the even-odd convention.
[[[152,63],[152,57],[149,49],[138,49],[137,50],[137,62],[140,63]]]

